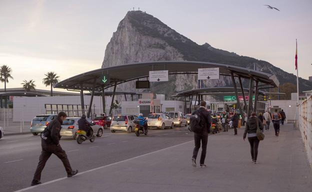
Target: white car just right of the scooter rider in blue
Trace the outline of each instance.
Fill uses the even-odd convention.
[[[148,128],[172,129],[174,127],[172,119],[164,113],[152,113],[147,116]]]

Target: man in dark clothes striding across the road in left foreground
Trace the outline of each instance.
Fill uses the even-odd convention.
[[[67,155],[59,145],[59,140],[61,137],[59,135],[59,131],[61,129],[61,124],[63,120],[66,119],[66,116],[66,113],[59,112],[57,117],[52,120],[49,125],[44,129],[44,131],[40,134],[42,151],[39,157],[37,169],[31,182],[31,186],[41,184],[41,172],[45,166],[46,161],[52,154],[56,155],[62,161],[68,178],[78,173],[78,170],[72,171],[69,161],[67,159]]]

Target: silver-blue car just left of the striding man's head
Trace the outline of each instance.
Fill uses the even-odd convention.
[[[37,115],[30,123],[30,132],[32,135],[38,135],[41,133],[57,115]]]

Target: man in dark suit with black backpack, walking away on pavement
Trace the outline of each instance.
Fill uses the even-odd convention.
[[[204,160],[206,157],[206,149],[208,142],[208,133],[211,127],[211,116],[210,113],[206,110],[206,102],[200,101],[200,107],[196,111],[192,113],[190,119],[190,128],[191,131],[194,132],[194,142],[195,147],[193,150],[192,156],[192,166],[195,168],[196,166],[196,158],[201,146],[201,155],[200,155],[200,168],[207,167],[204,164]]]

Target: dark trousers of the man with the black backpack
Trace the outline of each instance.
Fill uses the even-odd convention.
[[[200,155],[200,164],[204,164],[204,160],[206,158],[206,151],[207,151],[207,142],[208,142],[208,133],[194,133],[194,141],[195,141],[195,147],[193,150],[193,158],[197,158],[197,154],[200,148],[200,142],[201,142],[201,155]]]

